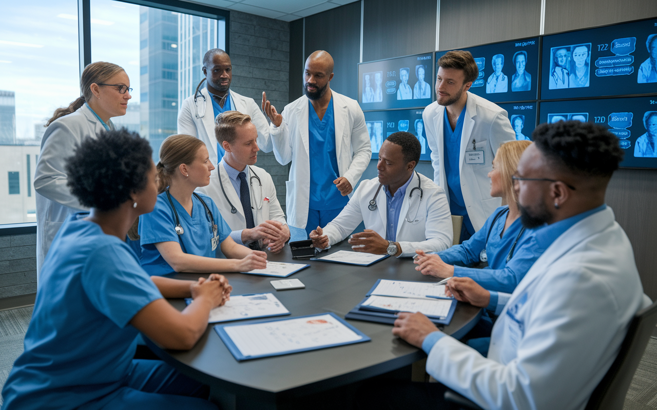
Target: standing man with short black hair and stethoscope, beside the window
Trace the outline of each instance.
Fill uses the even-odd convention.
[[[212,164],[223,157],[224,150],[214,137],[214,119],[222,112],[238,111],[251,117],[258,130],[258,146],[271,152],[269,123],[253,98],[231,90],[233,65],[229,55],[212,49],[203,57],[205,78],[196,86],[193,96],[185,98],[178,113],[178,133],[188,134],[205,142]],[[201,87],[206,83],[206,87]]]

